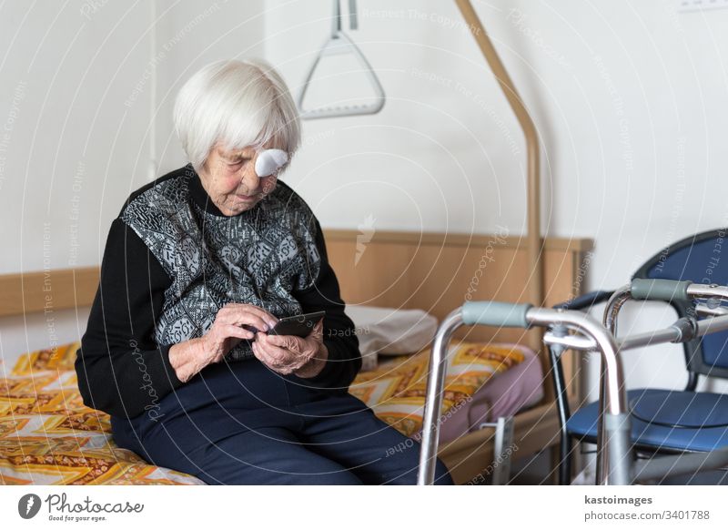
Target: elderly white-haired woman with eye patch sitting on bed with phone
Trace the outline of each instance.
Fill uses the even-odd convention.
[[[278,182],[300,142],[269,66],[182,87],[190,164],[126,200],[76,359],[116,443],[208,484],[414,484],[419,445],[347,392],[359,343],[319,221]],[[278,319],[325,311],[305,338]],[[392,451],[396,448],[396,451]],[[451,484],[439,463],[437,482]]]

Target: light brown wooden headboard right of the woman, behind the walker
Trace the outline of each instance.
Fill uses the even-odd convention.
[[[365,242],[355,230],[327,230],[329,261],[347,303],[418,308],[442,319],[464,301],[526,301],[526,241],[502,234],[378,231]],[[591,240],[543,243],[547,305],[581,294]],[[523,331],[483,326],[473,340],[521,341]]]

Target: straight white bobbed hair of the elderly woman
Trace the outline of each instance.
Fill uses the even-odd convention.
[[[264,61],[223,60],[204,66],[179,90],[175,129],[199,172],[217,144],[227,150],[300,146],[298,110],[283,78]]]

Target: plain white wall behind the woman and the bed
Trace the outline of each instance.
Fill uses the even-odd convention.
[[[596,241],[588,288],[622,284],[669,241],[726,223],[728,10],[474,4],[541,133],[544,234]],[[0,273],[98,263],[110,220],[147,181],[149,127],[157,174],[185,161],[170,116],[181,83],[217,58],[263,55],[298,93],[330,27],[329,2],[90,5],[0,9],[0,127],[13,118],[0,151]],[[327,227],[373,218],[375,229],[522,233],[521,133],[454,3],[361,0],[359,25],[349,35],[387,105],[373,117],[306,122],[288,182]],[[645,314],[647,325],[669,321]],[[62,337],[77,338],[85,322],[67,316]],[[622,331],[641,325],[628,314]],[[47,322],[28,330],[0,321],[4,354],[47,344]],[[682,384],[678,348],[644,356],[649,371],[628,362],[633,385]]]

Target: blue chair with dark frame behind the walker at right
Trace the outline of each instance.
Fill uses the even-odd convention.
[[[728,285],[726,235],[728,229],[716,229],[678,241],[648,260],[633,278]],[[585,310],[611,296],[612,291],[595,291],[554,307]],[[679,317],[694,316],[692,303],[671,305]],[[642,388],[627,392],[632,443],[641,454],[705,452],[728,446],[728,395],[695,392],[701,375],[728,379],[728,331],[687,342],[683,347],[688,372],[684,390]],[[571,414],[560,356],[551,351],[550,360],[561,420],[559,481],[570,484],[572,443],[596,443],[598,403]]]

